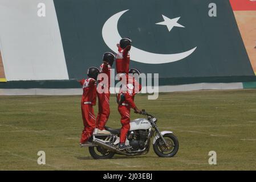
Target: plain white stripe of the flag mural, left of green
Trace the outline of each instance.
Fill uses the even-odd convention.
[[[1,0],[0,41],[7,81],[68,79],[53,0]]]

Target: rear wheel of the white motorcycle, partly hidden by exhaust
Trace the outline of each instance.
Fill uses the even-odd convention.
[[[92,138],[90,138],[91,142]],[[111,159],[115,155],[114,152],[111,152],[103,147],[89,147],[89,152],[94,159]]]

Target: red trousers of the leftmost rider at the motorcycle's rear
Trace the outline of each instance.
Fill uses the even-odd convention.
[[[84,123],[84,130],[82,133],[82,137],[80,139],[80,143],[87,142],[91,135],[94,133],[94,129],[96,126],[94,107],[91,104],[82,104],[82,117]]]

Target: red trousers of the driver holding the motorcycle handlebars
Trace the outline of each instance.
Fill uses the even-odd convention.
[[[130,130],[130,106],[119,106],[118,111],[121,115],[121,133],[120,133],[120,143],[125,143],[127,133]]]

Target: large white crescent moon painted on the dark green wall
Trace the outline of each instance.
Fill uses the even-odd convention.
[[[102,28],[103,40],[107,44],[107,46],[114,52],[117,52],[116,43],[119,43],[119,41],[121,40],[121,36],[117,30],[117,23],[121,15],[123,15],[126,11],[128,10],[121,11],[111,16],[104,23],[104,26]],[[174,61],[184,59],[185,57],[188,57],[190,54],[192,54],[196,50],[196,48],[197,47],[181,53],[158,54],[158,53],[143,51],[141,49],[138,49],[132,46],[130,55],[131,55],[131,60],[137,61],[140,63],[163,64],[163,63],[172,63]]]

